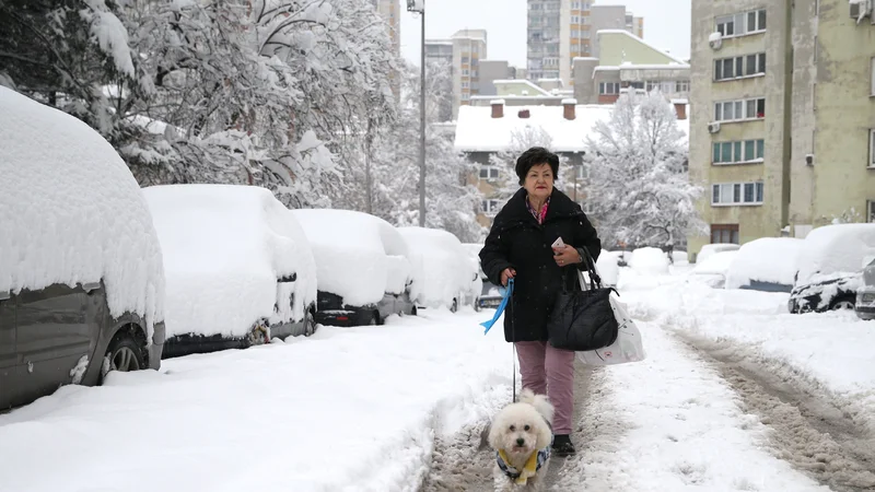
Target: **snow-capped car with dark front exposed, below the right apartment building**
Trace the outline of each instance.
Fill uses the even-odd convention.
[[[875,248],[875,224],[818,227],[805,237],[796,257],[791,313],[853,309],[863,284],[863,259]]]

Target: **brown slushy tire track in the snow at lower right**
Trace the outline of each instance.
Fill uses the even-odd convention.
[[[773,429],[769,444],[775,456],[836,491],[875,490],[875,436],[852,415],[750,362],[730,342],[673,332]]]

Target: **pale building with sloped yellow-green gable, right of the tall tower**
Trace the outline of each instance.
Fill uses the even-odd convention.
[[[628,89],[658,89],[666,97],[686,102],[690,66],[621,30],[598,31],[598,57],[575,58],[574,98],[581,104],[614,104]]]

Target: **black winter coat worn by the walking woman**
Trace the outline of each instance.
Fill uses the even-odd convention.
[[[595,227],[565,194],[553,189],[542,224],[528,211],[526,200],[523,188],[508,201],[480,251],[483,273],[495,285],[501,284],[505,268],[516,270],[513,297],[504,312],[504,339],[509,342],[547,341],[547,321],[562,285],[580,290],[578,269],[585,265],[556,265],[551,246],[558,237],[575,248],[585,246],[593,258],[602,253]]]

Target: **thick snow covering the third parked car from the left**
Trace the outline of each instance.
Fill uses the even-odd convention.
[[[411,278],[407,243],[388,222],[350,210],[292,213],[313,248],[320,291],[352,306],[375,304],[387,292],[405,291]]]

